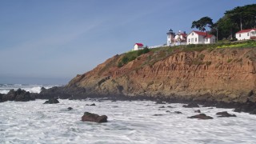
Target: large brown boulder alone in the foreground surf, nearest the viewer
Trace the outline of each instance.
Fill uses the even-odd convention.
[[[83,122],[107,122],[107,116],[106,115],[102,115],[99,116],[98,114],[92,114],[89,112],[85,112],[82,116],[82,121]]]

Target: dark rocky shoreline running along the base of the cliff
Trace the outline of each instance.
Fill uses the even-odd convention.
[[[126,96],[122,94],[111,94],[111,95],[99,95],[99,94],[84,94],[81,93],[83,90],[81,88],[76,88],[71,90],[65,86],[53,87],[48,90],[42,88],[40,94],[30,94],[25,90],[10,90],[8,94],[0,94],[0,102],[6,101],[16,101],[16,102],[27,102],[35,99],[86,99],[86,98],[98,98],[99,101],[111,100],[115,101],[140,101],[149,100],[156,102],[156,104],[166,104],[166,103],[184,103],[183,107],[198,107],[198,105],[204,107],[217,107],[217,108],[233,108],[234,112],[246,112],[250,114],[256,114],[256,103],[255,102],[217,102],[217,101],[207,101],[205,100],[194,100],[185,99],[178,97],[149,97],[149,96]],[[73,93],[74,92],[74,93]]]

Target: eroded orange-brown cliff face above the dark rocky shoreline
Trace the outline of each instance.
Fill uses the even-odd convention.
[[[83,87],[86,94],[256,101],[254,48],[163,53],[150,51],[120,68],[122,55],[116,55],[73,78],[67,87]]]

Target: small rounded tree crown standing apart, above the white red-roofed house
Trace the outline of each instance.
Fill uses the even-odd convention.
[[[203,17],[203,18],[199,19],[198,21],[192,22],[191,29],[193,29],[195,27],[198,30],[206,31],[206,26],[211,28],[213,25],[214,25],[213,19],[211,19],[209,17]]]

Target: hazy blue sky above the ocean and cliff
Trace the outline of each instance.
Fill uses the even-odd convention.
[[[166,43],[254,0],[0,0],[0,83],[67,84],[134,43]]]

